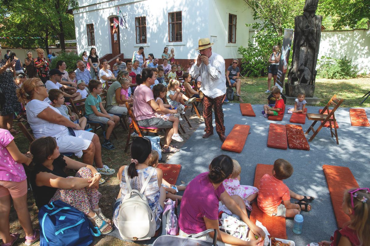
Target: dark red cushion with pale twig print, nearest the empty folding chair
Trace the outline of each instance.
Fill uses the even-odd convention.
[[[310,145],[300,125],[287,124],[285,127],[289,149],[310,150]]]

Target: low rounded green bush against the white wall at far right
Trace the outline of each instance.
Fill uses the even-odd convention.
[[[346,56],[342,59],[322,56],[317,60],[317,75],[325,79],[351,79],[357,77],[358,72],[358,64]]]

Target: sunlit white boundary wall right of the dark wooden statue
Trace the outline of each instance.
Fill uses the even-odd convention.
[[[351,58],[359,65],[359,73],[370,73],[370,30],[343,30],[321,32],[319,59]]]

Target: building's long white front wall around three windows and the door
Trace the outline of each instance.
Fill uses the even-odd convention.
[[[92,4],[93,0],[84,2]],[[168,46],[175,49],[177,59],[196,58],[194,48],[198,46],[198,38],[208,33],[208,0],[144,0],[127,4],[109,1],[81,7],[74,11],[78,52],[90,51],[92,46],[88,46],[86,24],[93,23],[98,55],[111,53],[109,18],[117,15],[117,4],[127,15],[127,29],[120,27],[121,53],[125,57],[131,57],[139,46],[144,47],[146,56],[153,53],[160,57],[164,47]],[[168,41],[168,13],[175,11],[182,11],[182,42]],[[135,17],[140,16],[147,17],[147,44],[136,44]]]

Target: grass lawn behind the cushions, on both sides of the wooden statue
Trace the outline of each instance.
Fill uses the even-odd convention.
[[[273,81],[272,81],[273,84]],[[360,102],[364,99],[362,96],[370,90],[370,78],[358,79],[316,79],[315,97],[321,98],[320,104],[324,106],[334,94],[343,98],[344,102],[340,107],[370,107],[370,98],[366,99],[363,104]],[[242,79],[242,98],[245,103],[266,104],[268,93],[267,77]],[[233,101],[238,103],[238,101]]]

